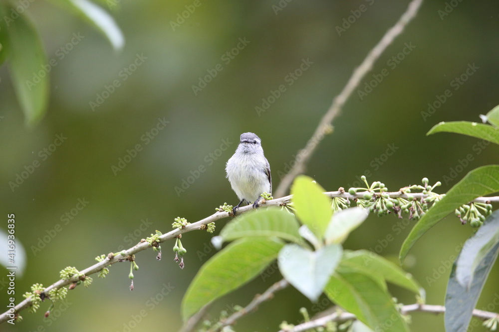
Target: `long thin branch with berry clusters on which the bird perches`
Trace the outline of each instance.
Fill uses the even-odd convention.
[[[351,194],[346,193],[344,191],[332,191],[332,192],[326,192],[326,193],[324,193],[324,195],[327,195],[330,198],[343,197],[343,198],[347,198],[347,199],[353,200],[355,198],[363,198],[364,193],[365,192],[359,192],[359,193],[356,193],[355,195],[351,195]],[[408,194],[404,194],[401,191],[391,192],[391,193],[384,193],[384,194],[388,194],[391,198],[406,198],[406,199],[408,198]],[[428,195],[425,195],[425,194],[422,194],[422,193],[411,193],[409,195],[412,196],[415,199],[421,199],[421,198],[428,197]],[[285,204],[288,204],[290,202],[291,198],[292,198],[292,195],[288,195],[288,196],[284,196],[284,197],[277,198],[277,199],[274,199],[274,200],[260,201],[259,204],[258,204],[258,206],[260,206],[260,207],[263,206],[263,205],[266,206],[266,207],[283,206]],[[473,201],[474,202],[480,202],[480,203],[499,202],[499,196],[494,196],[494,197],[479,197],[479,198],[476,198]],[[237,214],[239,216],[239,215],[248,213],[251,210],[253,210],[253,208],[251,207],[251,205],[248,205],[248,206],[240,208],[238,210]],[[175,238],[175,237],[179,236],[180,234],[183,234],[183,233],[186,233],[186,232],[189,232],[189,231],[192,231],[192,230],[201,229],[202,226],[207,225],[210,222],[218,221],[218,220],[229,218],[229,217],[232,217],[232,213],[228,213],[228,212],[216,212],[213,215],[211,215],[209,217],[206,217],[206,218],[204,218],[204,219],[202,219],[200,221],[196,221],[196,222],[190,223],[190,224],[186,225],[184,228],[177,228],[177,229],[174,229],[174,230],[172,230],[172,231],[170,231],[170,232],[168,232],[166,234],[161,235],[159,237],[159,242],[164,242],[166,240]],[[138,244],[136,244],[135,246],[133,246],[133,247],[127,249],[127,250],[123,250],[120,253],[117,253],[117,254],[110,253],[108,255],[108,257],[106,259],[104,259],[102,262],[98,262],[98,263],[96,263],[96,264],[94,264],[94,265],[92,265],[90,267],[87,267],[86,269],[84,269],[84,270],[82,270],[80,272],[83,273],[85,276],[90,276],[92,274],[100,272],[103,268],[105,268],[105,267],[107,267],[109,265],[112,265],[112,264],[115,264],[117,262],[123,261],[124,259],[127,258],[128,255],[134,255],[134,254],[136,254],[136,253],[138,253],[138,252],[140,252],[142,250],[146,250],[147,248],[150,248],[150,247],[151,247],[151,245],[147,241],[145,241],[145,240],[141,241]],[[48,286],[47,288],[45,288],[45,290],[44,290],[43,293],[44,294],[48,294],[48,292],[51,289],[60,288],[60,287],[69,285],[69,284],[71,284],[73,282],[77,282],[78,280],[79,280],[78,277],[72,277],[69,280],[60,279],[59,281],[57,281],[57,282],[53,283],[52,285]],[[19,303],[18,305],[16,305],[14,307],[14,311],[16,313],[19,313],[20,311],[28,308],[30,305],[31,305],[31,298],[27,298],[24,301],[22,301],[21,303]],[[9,319],[8,314],[9,314],[9,312],[6,311],[6,312],[4,312],[3,314],[0,315],[0,324],[3,323],[3,322],[6,322]]]

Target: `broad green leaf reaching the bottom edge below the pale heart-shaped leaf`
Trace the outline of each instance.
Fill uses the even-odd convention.
[[[409,331],[391,295],[365,274],[337,271],[324,292],[374,331]]]

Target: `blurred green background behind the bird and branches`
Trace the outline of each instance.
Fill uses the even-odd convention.
[[[279,174],[288,170],[353,69],[408,4],[280,2],[287,5],[275,11],[277,0],[201,0],[182,24],[172,27],[177,14],[193,1],[122,0],[110,8],[126,38],[122,52],[114,52],[102,35],[51,3],[30,3],[27,12],[40,31],[47,58],[57,64],[50,72],[49,109],[32,129],[24,126],[6,66],[0,68],[0,227],[6,229],[7,213],[15,214],[17,238],[27,255],[25,273],[16,280],[16,303],[31,284],[48,286],[58,280],[66,266],[81,270],[94,264],[97,255],[130,247],[155,229],[170,230],[178,216],[197,221],[224,202],[237,204],[224,168],[243,132],[255,132],[262,139],[276,188]],[[356,91],[347,102],[334,122],[334,133],[320,144],[306,172],[324,188],[358,186],[355,182],[370,171],[369,182],[382,181],[393,191],[428,177],[432,184],[442,181],[439,191],[444,192],[468,171],[497,163],[499,149],[492,144],[481,148],[475,138],[425,135],[440,121],[479,121],[479,114],[499,104],[499,2],[451,2],[454,7],[447,9],[453,10],[442,15],[448,2],[425,1],[359,90],[374,79],[373,74],[379,76],[385,69],[388,76],[367,96]],[[353,19],[351,10],[361,5],[366,10]],[[338,33],[349,16],[353,23]],[[83,38],[61,58],[61,47],[71,42],[73,33]],[[238,43],[240,49],[234,50]],[[410,52],[406,48],[400,55],[406,45],[412,45]],[[403,59],[395,62],[394,56]],[[286,79],[307,59],[311,63],[300,77]],[[140,65],[131,66],[134,61]],[[217,65],[222,70],[195,94],[193,85]],[[456,77],[469,66],[475,66],[473,75],[465,74],[466,82],[456,85]],[[130,74],[123,74],[124,68]],[[104,93],[114,80],[120,86]],[[255,111],[280,85],[285,92],[266,111]],[[437,96],[447,89],[451,97],[431,116],[422,114],[429,103],[442,100]],[[99,96],[107,98],[92,110],[90,103],[97,103]],[[168,123],[156,130],[163,126],[157,127],[159,119]],[[57,135],[67,138],[60,146],[51,146]],[[126,167],[113,172],[119,158],[137,144],[141,150]],[[44,157],[39,152],[43,149],[53,152]],[[387,149],[394,151],[391,156]],[[457,167],[468,154],[473,160]],[[8,183],[35,160],[40,166],[12,190]],[[204,172],[188,179],[200,166]],[[176,190],[183,180],[192,183]],[[78,200],[88,202],[81,211]],[[72,219],[65,219],[67,212],[73,213]],[[225,222],[217,223],[216,233]],[[414,224],[397,222],[395,216],[371,216],[345,247],[371,249],[395,260]],[[47,237],[55,227],[60,231]],[[451,258],[471,233],[471,227],[451,216],[411,251],[404,268],[426,288],[429,304],[444,303]],[[69,292],[68,302],[56,307],[50,318],[43,319],[48,308],[43,304],[36,314],[24,311],[22,323],[3,324],[0,330],[176,331],[181,326],[182,296],[215,253],[209,246],[211,237],[199,231],[182,238],[188,250],[183,270],[173,261],[174,242],[167,242],[159,262],[152,250],[136,255],[140,270],[135,272],[133,292],[128,289],[129,264],[115,264],[106,279],[94,275],[90,288],[79,286]],[[4,311],[6,277],[2,278]],[[248,304],[279,279],[278,272],[265,281],[257,278],[222,298],[212,307],[211,318],[216,319],[226,305]],[[498,281],[496,264],[479,309],[499,311],[492,304],[499,297]],[[405,304],[414,302],[408,292],[395,287],[392,292]],[[236,331],[278,331],[283,320],[297,324],[302,306],[315,314],[329,304],[323,299],[314,305],[290,287],[241,319]],[[443,316],[415,313],[412,322],[412,331],[444,329]]]

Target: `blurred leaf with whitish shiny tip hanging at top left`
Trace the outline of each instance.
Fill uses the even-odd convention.
[[[114,18],[102,7],[89,0],[51,0],[81,17],[99,30],[115,50],[121,50],[125,38]]]

